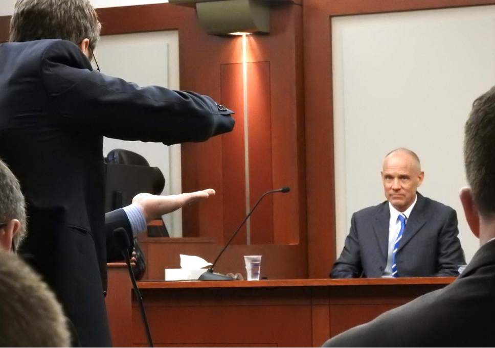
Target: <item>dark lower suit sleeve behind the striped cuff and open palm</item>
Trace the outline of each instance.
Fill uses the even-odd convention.
[[[129,254],[132,253],[134,248],[134,239],[132,237],[132,230],[130,226],[127,214],[123,209],[117,209],[113,212],[105,214],[105,234],[106,234],[106,260],[107,262],[123,261],[122,251],[116,246],[114,240],[114,230],[122,227],[129,237],[130,247]]]

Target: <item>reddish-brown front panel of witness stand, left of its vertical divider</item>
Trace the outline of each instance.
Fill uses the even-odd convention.
[[[142,291],[150,330],[157,344],[286,347],[311,344],[308,289]],[[138,315],[138,308],[133,307],[133,343],[143,344],[146,338]]]

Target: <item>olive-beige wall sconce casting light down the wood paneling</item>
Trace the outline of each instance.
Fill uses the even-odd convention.
[[[269,0],[169,0],[170,4],[195,6],[201,26],[208,34],[214,35],[269,33],[270,2]]]

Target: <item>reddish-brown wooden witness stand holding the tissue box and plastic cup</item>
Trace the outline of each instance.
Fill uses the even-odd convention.
[[[139,287],[156,346],[320,346],[331,336],[453,281],[140,282]],[[117,304],[121,324],[111,328],[116,346],[147,344],[134,300],[131,320],[122,317],[122,309],[130,306],[130,301]],[[114,311],[108,306],[110,322]],[[122,342],[120,337],[129,333],[132,341]]]

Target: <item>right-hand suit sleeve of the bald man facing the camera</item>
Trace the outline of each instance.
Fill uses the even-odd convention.
[[[445,224],[438,236],[437,273],[435,276],[458,276],[459,266],[466,264],[461,242],[457,238],[458,234],[456,211],[449,208]]]

